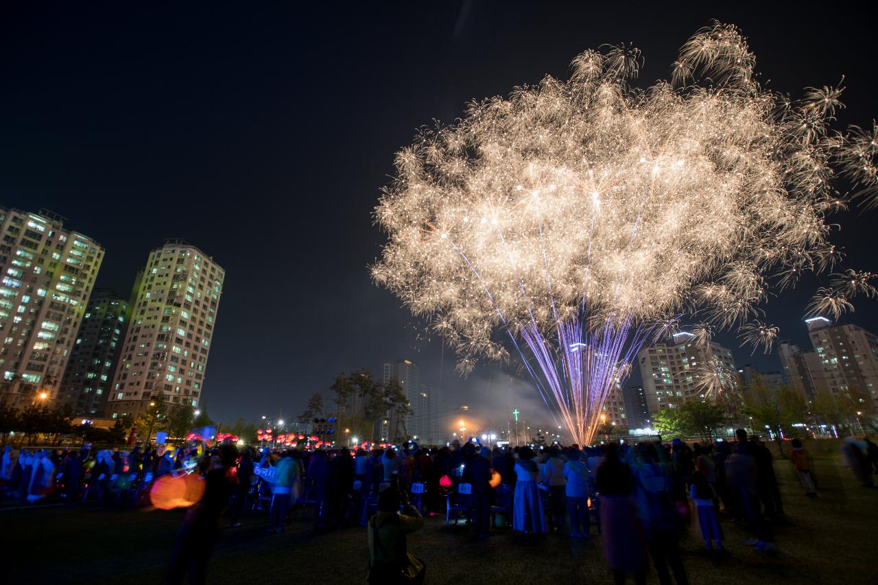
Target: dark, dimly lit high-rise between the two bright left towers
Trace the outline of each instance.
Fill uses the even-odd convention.
[[[103,415],[128,326],[128,300],[95,289],[70,351],[58,401],[74,415]]]

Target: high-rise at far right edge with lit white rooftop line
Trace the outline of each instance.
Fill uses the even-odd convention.
[[[820,383],[832,394],[859,390],[878,402],[878,336],[853,324],[832,325],[825,317],[805,322],[817,354],[811,363],[819,364],[811,367],[823,374]]]

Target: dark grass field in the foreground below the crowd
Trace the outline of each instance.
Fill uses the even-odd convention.
[[[706,555],[693,525],[683,542],[690,581],[878,582],[878,489],[858,486],[835,452],[818,453],[816,464],[821,497],[810,499],[802,496],[788,461],[775,461],[786,511],[784,523],[776,527],[775,553],[752,550],[745,545],[745,529],[724,522],[729,553]],[[182,516],[179,510],[120,511],[94,505],[4,509],[0,571],[5,575],[0,582],[162,582]],[[408,539],[409,550],[427,563],[428,583],[611,582],[600,538],[550,535],[525,541],[500,531],[487,541],[473,541],[463,524],[446,529],[443,520],[428,518],[425,529]],[[209,582],[363,582],[363,528],[314,535],[309,523],[294,521],[284,534],[266,534],[264,515],[253,513],[244,522],[244,527],[224,529]],[[594,535],[594,525],[592,531]],[[649,581],[656,582],[654,574]]]

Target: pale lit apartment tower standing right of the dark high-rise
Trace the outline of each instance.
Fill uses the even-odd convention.
[[[112,417],[139,415],[159,394],[171,407],[198,407],[225,278],[183,240],[149,253],[107,401]]]

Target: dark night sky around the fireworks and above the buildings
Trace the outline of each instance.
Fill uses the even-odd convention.
[[[163,238],[213,256],[227,279],[205,399],[220,421],[298,415],[336,372],[397,358],[421,365],[429,386],[441,378],[450,405],[474,417],[505,420],[515,401],[529,420],[549,419],[527,380],[510,383],[500,367],[458,378],[453,355],[421,340],[422,324],[367,270],[393,154],[473,97],[566,77],[582,50],[621,41],[643,50],[648,84],[717,18],[744,30],[770,88],[797,97],[844,74],[840,122],[878,115],[865,6],[33,4],[0,5],[0,204],[68,217],[106,249],[97,285],[125,295]],[[838,216],[846,267],[878,271],[876,220],[856,207]],[[801,319],[818,285],[766,306],[781,339],[808,345]],[[878,329],[876,303],[860,300],[847,320]],[[780,369],[749,353],[736,350],[738,364]]]

